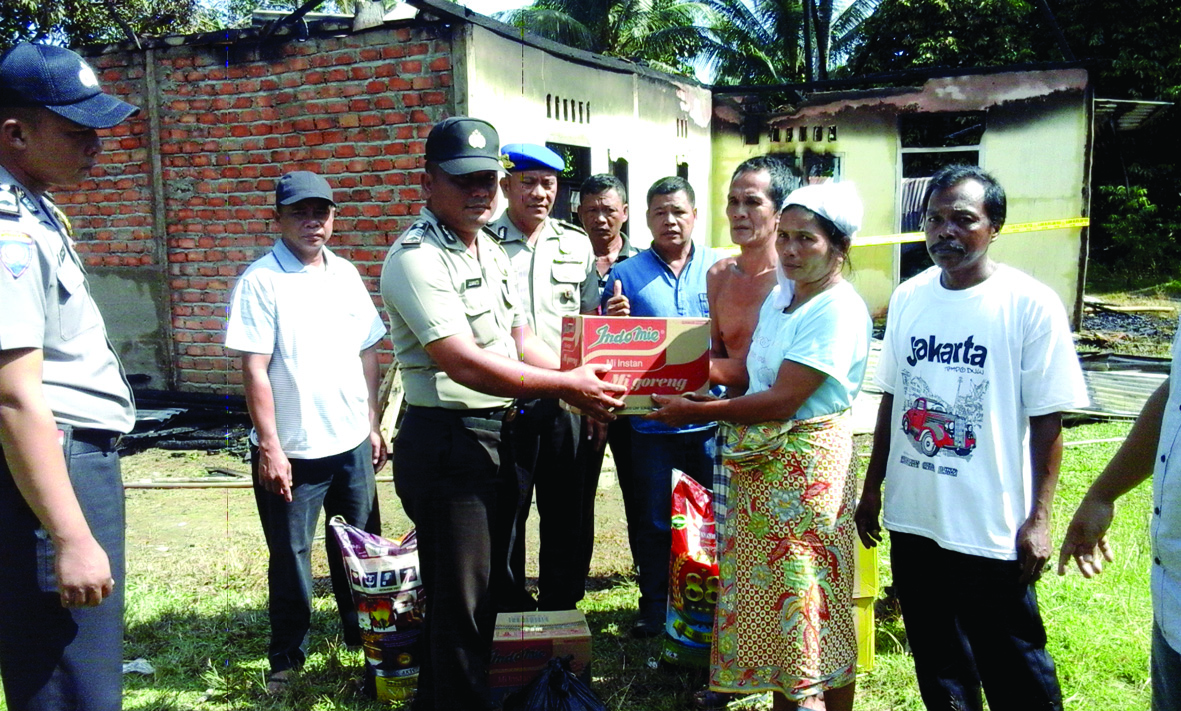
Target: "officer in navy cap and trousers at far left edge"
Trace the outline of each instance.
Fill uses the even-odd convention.
[[[9,711],[122,707],[131,389],[50,202],[137,109],[63,47],[0,57],[0,676]]]

